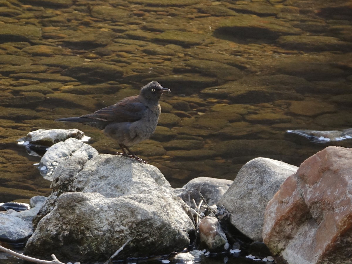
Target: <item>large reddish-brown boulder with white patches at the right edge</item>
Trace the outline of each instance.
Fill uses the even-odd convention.
[[[263,239],[287,263],[352,263],[352,149],[306,159],[268,203]]]

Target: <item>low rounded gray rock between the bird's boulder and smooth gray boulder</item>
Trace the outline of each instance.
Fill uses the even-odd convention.
[[[190,180],[182,189],[182,193],[178,194],[187,204],[188,197],[190,200],[194,199],[198,204],[202,199],[198,191],[203,195],[209,205],[215,205],[222,195],[231,186],[233,181],[225,179],[216,179],[210,177],[198,177]],[[194,207],[194,205],[190,205]]]

